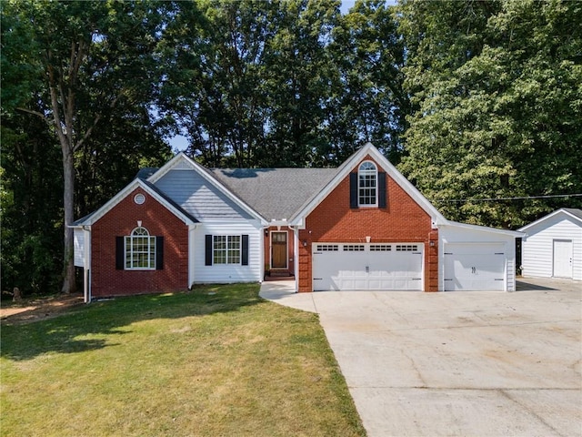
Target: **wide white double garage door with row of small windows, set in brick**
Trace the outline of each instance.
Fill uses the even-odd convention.
[[[313,290],[422,290],[423,244],[314,243]]]

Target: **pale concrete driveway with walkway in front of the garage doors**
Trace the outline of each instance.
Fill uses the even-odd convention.
[[[261,296],[319,313],[370,437],[582,435],[582,284]]]

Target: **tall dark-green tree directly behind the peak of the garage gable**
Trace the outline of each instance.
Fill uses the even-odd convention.
[[[392,7],[383,0],[358,0],[333,36],[338,77],[328,105],[328,153],[338,164],[372,142],[397,164],[410,103],[402,86],[404,45]]]

